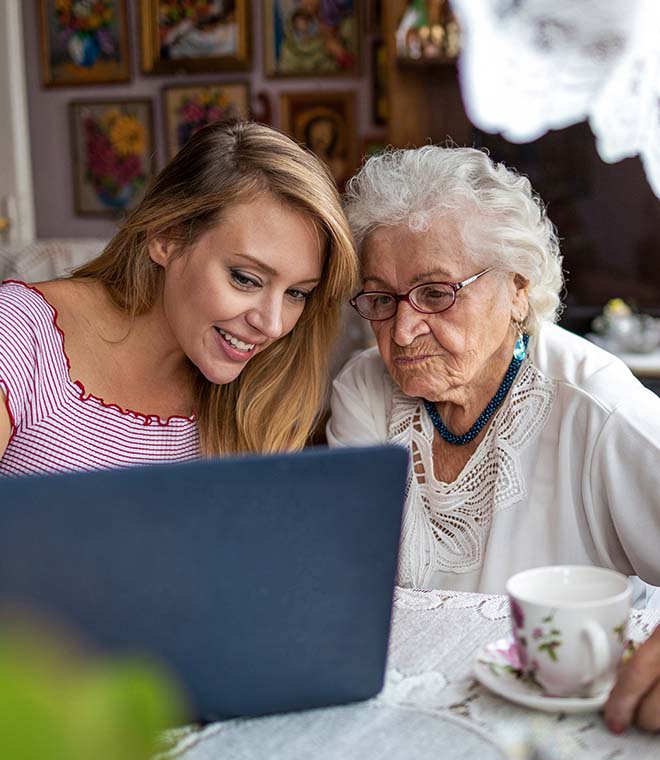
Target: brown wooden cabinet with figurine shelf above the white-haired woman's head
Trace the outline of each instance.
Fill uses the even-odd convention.
[[[406,0],[383,3],[383,35],[387,50],[388,141],[397,148],[419,147],[429,141],[469,145],[470,123],[461,100],[453,63],[397,60],[396,29]]]

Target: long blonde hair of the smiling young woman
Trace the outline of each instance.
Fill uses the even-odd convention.
[[[149,257],[150,241],[166,237],[185,255],[227,209],[260,193],[313,221],[325,245],[323,274],[293,330],[235,380],[216,385],[196,373],[195,413],[207,456],[299,449],[318,420],[340,306],[357,282],[351,233],[324,164],[269,127],[211,124],[160,172],[101,255],[73,272],[103,283],[131,317],[144,314],[163,279]]]

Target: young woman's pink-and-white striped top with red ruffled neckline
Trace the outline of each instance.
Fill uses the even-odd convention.
[[[199,457],[194,416],[162,420],[106,404],[69,369],[57,312],[43,294],[21,282],[0,285],[0,390],[11,421],[0,477]]]

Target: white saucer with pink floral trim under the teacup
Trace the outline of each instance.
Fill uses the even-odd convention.
[[[519,668],[513,637],[492,641],[482,647],[474,662],[474,675],[500,697],[544,712],[597,712],[607,702],[611,684],[592,697],[550,697],[526,678]]]

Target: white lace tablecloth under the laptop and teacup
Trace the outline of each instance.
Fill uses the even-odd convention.
[[[510,631],[508,601],[397,589],[385,688],[355,705],[229,720],[174,732],[176,760],[657,760],[660,736],[606,730],[598,713],[564,715],[519,707],[475,681],[480,647]],[[660,610],[633,610],[639,641]]]

